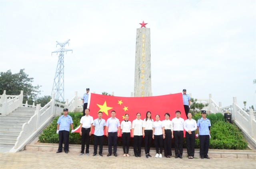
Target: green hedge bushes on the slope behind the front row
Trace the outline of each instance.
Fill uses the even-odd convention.
[[[196,114],[193,118],[197,121],[201,118],[200,113]],[[73,119],[74,128],[80,125],[82,113],[68,113]],[[59,137],[56,133],[58,117],[52,120],[52,123],[44,129],[42,134],[39,135],[41,143],[58,143]],[[242,132],[230,123],[224,122],[224,116],[221,113],[207,115],[212,123],[210,149],[246,149],[247,143],[242,135]],[[70,128],[71,131],[71,128]],[[70,144],[81,144],[81,136],[79,133],[70,132]],[[94,137],[91,135],[90,144],[94,143]],[[104,136],[103,145],[108,145],[108,138]],[[154,143],[152,140],[152,147]],[[118,137],[118,146],[122,146],[122,138]],[[130,140],[130,146],[133,146],[133,138]],[[144,140],[142,141],[144,147]],[[174,139],[172,139],[172,147],[174,147]],[[186,139],[184,138],[183,147],[186,148]],[[196,139],[195,148],[199,148],[199,139]]]

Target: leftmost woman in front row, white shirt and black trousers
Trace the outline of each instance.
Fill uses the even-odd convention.
[[[125,120],[121,122],[121,129],[122,129],[122,141],[123,141],[123,149],[124,149],[124,157],[130,157],[129,153],[129,146],[130,146],[130,139],[131,139],[131,129],[132,123],[128,120],[129,115],[124,115]]]

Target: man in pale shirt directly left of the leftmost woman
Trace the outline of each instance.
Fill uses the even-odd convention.
[[[116,111],[111,111],[111,117],[106,122],[106,136],[108,137],[108,155],[112,155],[112,144],[114,145],[114,156],[117,157],[117,137],[120,135],[120,122],[116,118]],[[117,132],[118,131],[118,132]]]

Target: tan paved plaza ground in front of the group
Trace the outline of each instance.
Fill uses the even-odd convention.
[[[153,154],[152,154],[153,155]],[[0,153],[1,169],[255,169],[255,159],[175,159],[151,157],[96,157],[79,153],[20,151]]]

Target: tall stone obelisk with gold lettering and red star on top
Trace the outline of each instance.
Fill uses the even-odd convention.
[[[144,27],[144,28],[143,28]],[[134,97],[152,96],[150,28],[144,21],[136,33]]]

